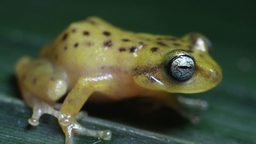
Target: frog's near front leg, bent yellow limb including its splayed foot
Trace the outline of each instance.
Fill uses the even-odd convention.
[[[73,143],[73,138],[76,134],[98,137],[103,140],[109,140],[111,138],[111,132],[109,130],[89,130],[78,124],[76,121],[76,115],[90,95],[95,91],[104,91],[108,89],[109,81],[111,80],[113,80],[111,75],[81,77],[78,79],[77,84],[69,92],[60,108],[64,117],[59,118],[59,123],[66,135],[66,143]]]

